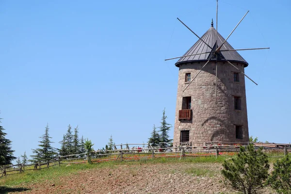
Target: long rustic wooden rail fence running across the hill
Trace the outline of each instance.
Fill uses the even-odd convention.
[[[133,145],[133,144],[128,144]],[[140,144],[144,145],[144,144]],[[116,145],[118,146],[118,145]],[[115,146],[115,148],[116,148]],[[272,144],[271,146],[274,146]],[[125,146],[124,146],[125,147]],[[260,146],[255,146],[260,147]],[[275,147],[264,145],[263,151],[267,154],[274,154],[269,157],[283,157],[291,153],[289,144],[276,144]],[[133,147],[131,149],[126,146],[114,150],[98,150],[89,154],[89,162],[106,162],[106,161],[129,161],[129,160],[146,160],[154,158],[194,158],[194,157],[218,157],[231,156],[239,152],[239,146],[176,146],[176,147]],[[230,154],[230,155],[229,155]],[[5,166],[0,169],[0,178],[9,175],[15,175],[30,170],[41,170],[55,165],[87,163],[88,153],[74,154],[68,156],[59,156],[52,160],[39,161],[33,164],[15,164]]]

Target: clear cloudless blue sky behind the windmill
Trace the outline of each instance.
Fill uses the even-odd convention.
[[[0,2],[0,117],[18,157],[31,155],[49,123],[59,147],[67,125],[94,148],[147,142],[162,110],[174,125],[175,60],[215,21],[216,0]],[[291,142],[290,0],[220,0],[218,31],[249,63],[249,133]],[[173,137],[173,128],[170,131]]]

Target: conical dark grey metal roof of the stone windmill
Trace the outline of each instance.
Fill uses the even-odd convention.
[[[216,33],[217,31],[215,28],[213,28],[213,25],[211,24],[210,29],[205,32],[205,34],[201,37],[201,39],[206,42],[212,49],[210,49],[203,41],[200,39],[183,55],[192,55],[196,53],[202,53],[202,52],[210,52],[211,50],[214,51],[216,49]],[[225,39],[220,35],[217,34],[217,47],[221,46],[222,43],[225,41]],[[226,41],[225,44],[222,46],[220,50],[228,50],[233,49],[233,47],[230,46],[230,44]],[[248,63],[242,58],[242,56],[237,51],[223,51],[219,53],[220,56],[218,57],[218,61],[227,61],[230,62],[240,62],[244,64],[244,67],[248,65]],[[207,54],[199,54],[199,55],[193,55],[188,57],[182,57],[178,60],[178,62],[175,64],[176,66],[179,66],[183,63],[189,63],[189,62],[198,62],[198,61],[208,61],[210,57],[212,56],[212,53]],[[216,58],[214,57],[211,61],[215,61]]]

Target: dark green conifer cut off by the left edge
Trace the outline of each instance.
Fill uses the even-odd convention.
[[[7,133],[5,133],[4,130],[5,129],[0,126],[0,165],[12,164],[11,162],[16,159],[16,157],[13,156],[14,150],[11,149],[11,141],[5,138]]]

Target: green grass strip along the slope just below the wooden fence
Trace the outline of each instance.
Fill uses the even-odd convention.
[[[60,177],[69,176],[71,174],[77,174],[80,171],[90,170],[90,169],[101,169],[101,168],[116,168],[119,165],[132,165],[138,167],[139,164],[155,164],[155,163],[203,163],[203,162],[219,162],[222,163],[227,158],[224,156],[219,156],[218,159],[215,157],[199,157],[199,158],[186,158],[179,160],[177,158],[158,158],[158,159],[145,159],[140,161],[114,161],[114,162],[102,162],[94,164],[71,164],[71,165],[61,165],[53,166],[49,169],[42,169],[39,171],[27,171],[22,174],[7,176],[6,178],[0,178],[0,193],[18,192],[28,190],[24,186],[31,185],[34,183],[41,183],[46,180],[57,180]],[[269,158],[270,162],[273,163],[278,158]],[[175,169],[173,169],[175,170]],[[196,175],[196,176],[208,176],[213,177],[215,173],[209,169],[203,168],[188,168],[185,173]]]

